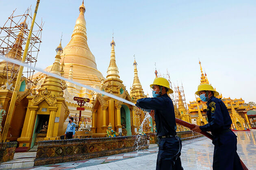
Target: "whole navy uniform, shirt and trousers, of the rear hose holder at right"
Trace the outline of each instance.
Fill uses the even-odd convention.
[[[232,120],[225,104],[214,96],[207,102],[208,123],[200,126],[213,134],[213,170],[243,170],[236,152],[237,136],[230,130]]]

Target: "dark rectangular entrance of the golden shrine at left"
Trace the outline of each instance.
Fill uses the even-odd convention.
[[[38,141],[46,137],[49,117],[50,115],[37,115],[30,148],[33,148],[35,144],[37,145]]]

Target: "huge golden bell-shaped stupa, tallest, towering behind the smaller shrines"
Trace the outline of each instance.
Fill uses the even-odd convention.
[[[67,46],[63,48],[61,63],[63,77],[100,89],[101,81],[102,79],[104,80],[104,77],[102,76],[102,73],[97,70],[95,57],[87,44],[84,2],[79,6],[79,15],[76,19],[71,40]],[[51,68],[52,65],[48,66],[45,70],[49,71]],[[33,77],[33,80],[35,79],[39,79],[39,83],[36,87],[36,89],[39,89],[46,79],[46,75],[37,73]],[[91,90],[67,82],[67,89],[64,90],[64,97],[70,110],[70,116],[76,117],[76,114],[78,114],[76,108],[79,106],[76,101],[73,100],[74,96],[92,99],[93,96],[91,94]],[[91,125],[91,106],[91,102],[87,103],[85,110],[82,110],[82,116],[85,117],[88,125]]]

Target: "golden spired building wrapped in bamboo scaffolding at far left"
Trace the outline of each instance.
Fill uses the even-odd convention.
[[[15,9],[16,10],[16,9]],[[13,58],[16,60],[22,60],[24,49],[22,46],[26,44],[28,34],[30,31],[30,23],[32,22],[31,6],[27,8],[24,14],[14,15],[15,10],[11,16],[4,23],[4,26],[0,27],[0,55]],[[43,28],[43,22],[40,24],[35,22],[34,29],[30,38],[30,45],[28,48],[28,54],[26,56],[25,63],[35,67],[37,62],[37,56],[41,44],[41,33]],[[0,62],[0,87],[2,89],[11,89],[15,84],[17,72],[19,70],[18,65],[8,61]],[[29,89],[33,82],[35,70],[30,68],[24,68],[21,89]]]

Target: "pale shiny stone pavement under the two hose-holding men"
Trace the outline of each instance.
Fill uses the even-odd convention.
[[[256,130],[235,132],[238,136],[238,154],[249,170],[256,170]],[[211,170],[213,144],[206,137],[182,141],[182,166],[184,170]],[[33,170],[154,170],[158,148],[99,157],[83,161],[31,167]],[[23,169],[25,170],[25,169]]]

